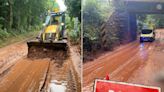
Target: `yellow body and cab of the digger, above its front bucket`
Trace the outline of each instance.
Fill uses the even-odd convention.
[[[64,13],[51,12],[45,21],[45,29],[42,34],[42,40],[48,40],[52,36],[51,40],[59,40],[63,38],[64,26]]]

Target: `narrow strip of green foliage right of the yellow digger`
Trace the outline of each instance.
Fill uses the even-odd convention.
[[[81,0],[66,0],[67,12],[66,28],[68,30],[68,37],[72,44],[80,44],[81,37]],[[75,20],[78,18],[77,27]]]

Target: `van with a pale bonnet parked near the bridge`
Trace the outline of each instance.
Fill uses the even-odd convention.
[[[155,40],[155,33],[152,29],[142,29],[140,33],[140,42],[149,41],[153,42]]]

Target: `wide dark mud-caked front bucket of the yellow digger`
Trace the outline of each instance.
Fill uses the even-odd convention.
[[[66,41],[40,42],[37,40],[27,42],[29,58],[65,59],[68,56]]]

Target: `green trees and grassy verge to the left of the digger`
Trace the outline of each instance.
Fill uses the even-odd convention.
[[[0,0],[0,46],[8,39],[39,31],[46,0]]]

